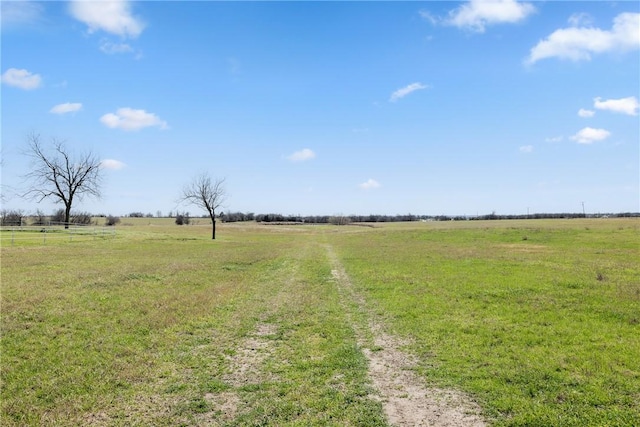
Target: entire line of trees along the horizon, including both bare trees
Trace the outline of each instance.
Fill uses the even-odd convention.
[[[52,139],[50,146],[42,142],[40,135],[31,134],[27,138],[25,154],[31,158],[30,172],[25,175],[29,182],[22,194],[23,197],[42,202],[51,199],[63,207],[50,217],[38,210],[35,215],[26,216],[22,211],[0,212],[0,225],[46,225],[46,223],[60,223],[65,227],[70,224],[91,224],[92,215],[87,212],[73,212],[76,201],[84,197],[101,196],[102,162],[91,152],[74,156],[67,149],[63,141]],[[257,221],[260,223],[296,223],[296,224],[336,224],[349,223],[379,223],[406,221],[468,221],[468,220],[505,220],[505,219],[541,219],[541,218],[585,218],[585,217],[637,217],[640,213],[627,212],[617,214],[589,214],[586,213],[535,213],[527,215],[498,215],[492,212],[488,215],[477,216],[449,216],[449,215],[281,215],[254,214],[242,212],[220,212],[227,198],[224,178],[212,178],[208,173],[195,176],[182,189],[177,201],[196,206],[206,212],[212,224],[212,239],[216,238],[216,219],[223,222]],[[4,200],[4,199],[3,199]],[[132,212],[131,217],[152,217],[141,212]],[[158,215],[160,216],[160,211]],[[171,216],[171,215],[170,215]],[[104,216],[105,225],[115,225],[118,217]],[[190,223],[189,213],[177,213],[176,224]]]

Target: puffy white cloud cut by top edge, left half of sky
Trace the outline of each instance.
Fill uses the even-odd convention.
[[[121,37],[138,37],[144,23],[131,14],[126,0],[84,1],[75,0],[69,5],[71,15],[89,27],[89,32],[98,30]]]

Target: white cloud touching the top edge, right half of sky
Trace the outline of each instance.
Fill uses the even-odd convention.
[[[445,23],[483,33],[488,25],[516,23],[535,11],[532,4],[515,0],[471,0],[449,12]]]

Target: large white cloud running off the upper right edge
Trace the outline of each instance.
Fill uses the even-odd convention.
[[[592,54],[628,51],[640,48],[640,13],[621,13],[613,20],[611,30],[593,27],[571,27],[554,31],[535,45],[528,64],[545,58],[590,60]]]

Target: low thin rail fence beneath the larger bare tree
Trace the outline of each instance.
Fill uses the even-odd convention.
[[[60,225],[14,225],[0,227],[0,243],[15,245],[19,242],[47,244],[48,241],[78,241],[113,238],[116,235],[115,227],[95,227],[70,225],[65,228]]]

